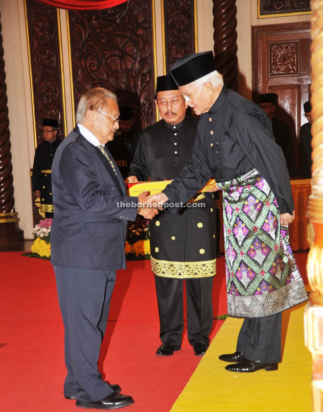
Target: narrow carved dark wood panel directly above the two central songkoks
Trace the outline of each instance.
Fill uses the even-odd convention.
[[[169,69],[181,57],[195,51],[194,1],[164,0],[164,18],[166,68]]]

